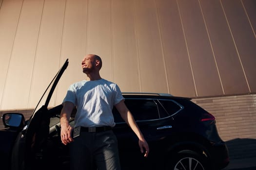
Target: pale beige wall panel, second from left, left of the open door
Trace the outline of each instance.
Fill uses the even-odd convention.
[[[5,108],[28,107],[42,8],[41,0],[23,1],[3,90]]]

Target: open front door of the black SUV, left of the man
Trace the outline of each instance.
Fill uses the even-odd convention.
[[[67,67],[68,59],[43,93],[32,116],[27,120],[23,130],[19,133],[12,152],[12,170],[41,170],[45,167],[40,165],[42,161],[38,160],[41,159],[40,153],[45,152],[44,148],[46,148],[46,141],[49,135],[49,123],[52,112],[48,110],[48,104],[60,77]],[[61,108],[62,105],[55,107],[59,112]],[[45,164],[47,165],[47,162]],[[48,164],[48,166],[47,170],[50,170],[50,165]]]

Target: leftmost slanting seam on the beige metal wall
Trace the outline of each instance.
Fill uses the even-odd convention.
[[[7,82],[7,78],[8,78],[8,72],[9,72],[9,67],[10,67],[10,63],[11,63],[11,59],[12,59],[12,54],[13,54],[13,48],[14,48],[14,44],[15,44],[16,34],[17,34],[17,30],[18,30],[18,27],[19,27],[19,24],[20,24],[20,15],[21,15],[22,7],[23,7],[23,2],[24,2],[24,0],[22,0],[21,6],[20,6],[20,14],[19,14],[19,17],[18,17],[17,25],[16,25],[16,30],[15,30],[15,34],[14,34],[13,44],[12,44],[12,48],[11,48],[11,54],[10,54],[10,58],[9,58],[8,66],[7,66],[7,71],[6,71],[5,80],[4,80],[4,85],[3,85],[3,92],[2,92],[2,96],[1,96],[0,108],[2,107],[3,96],[4,96],[4,94],[5,94],[4,91],[5,91],[6,82]]]

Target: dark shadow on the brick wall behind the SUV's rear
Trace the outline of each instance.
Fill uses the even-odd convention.
[[[236,138],[226,141],[230,159],[256,157],[256,139]]]

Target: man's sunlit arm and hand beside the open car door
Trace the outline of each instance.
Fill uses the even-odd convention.
[[[61,126],[60,137],[64,145],[74,141],[71,136],[71,132],[73,128],[69,124],[69,119],[74,106],[75,105],[72,102],[64,102],[63,108],[60,113],[60,126]]]

